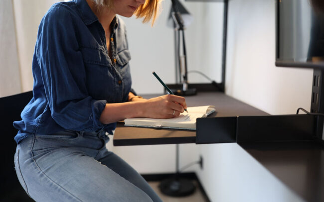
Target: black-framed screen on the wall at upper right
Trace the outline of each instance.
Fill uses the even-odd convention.
[[[276,0],[276,65],[324,68],[322,0]]]

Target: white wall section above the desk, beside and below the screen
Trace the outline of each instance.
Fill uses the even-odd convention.
[[[226,94],[271,114],[309,110],[312,69],[275,67],[275,0],[230,0]]]

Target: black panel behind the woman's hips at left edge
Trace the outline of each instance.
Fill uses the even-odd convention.
[[[16,142],[13,137],[17,130],[13,127],[14,120],[21,120],[20,113],[32,98],[32,92],[0,98],[0,114],[2,139],[0,141],[1,166],[0,166],[0,201],[2,202],[32,202],[22,189],[17,179],[13,155]],[[4,162],[4,163],[3,163]]]

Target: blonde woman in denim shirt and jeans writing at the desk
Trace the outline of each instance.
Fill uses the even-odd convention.
[[[33,98],[14,122],[16,173],[35,201],[161,201],[105,147],[116,121],[170,118],[186,108],[182,97],[145,100],[131,89],[125,25],[116,14],[154,21],[157,6],[158,0],[72,0],[42,18]]]

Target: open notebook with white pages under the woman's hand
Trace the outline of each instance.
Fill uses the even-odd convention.
[[[125,119],[125,126],[195,130],[196,119],[206,117],[212,112],[214,112],[215,106],[193,106],[188,107],[187,110],[188,113],[184,111],[177,117],[167,119],[127,118]]]

